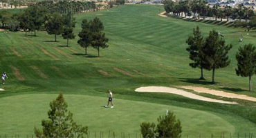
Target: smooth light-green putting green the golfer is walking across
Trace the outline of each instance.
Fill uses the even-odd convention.
[[[1,134],[6,132],[19,134],[22,137],[22,135],[28,134],[27,128],[40,127],[41,120],[47,119],[48,101],[55,97],[57,95],[42,94],[2,98],[0,118],[6,121],[0,124]],[[107,132],[110,130],[111,133],[116,133],[116,137],[121,135],[121,132],[125,132],[127,135],[129,132],[134,137],[136,133],[140,134],[140,123],[143,121],[156,122],[156,118],[159,115],[164,115],[166,109],[172,110],[181,119],[184,136],[197,137],[199,132],[202,136],[208,136],[212,130],[215,132],[214,135],[221,132],[235,132],[235,127],[232,124],[209,112],[122,99],[114,99],[114,108],[104,108],[102,106],[105,105],[106,98],[103,97],[66,95],[65,98],[69,103],[68,110],[73,112],[75,121],[89,126],[92,135],[95,132],[100,135],[99,132],[102,130],[107,136]],[[11,106],[9,102],[12,103]],[[33,115],[32,118],[30,114]],[[205,119],[209,119],[207,123],[205,123]],[[33,133],[33,129],[30,129],[29,132]]]

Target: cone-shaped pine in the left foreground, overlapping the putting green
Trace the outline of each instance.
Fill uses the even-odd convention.
[[[50,102],[48,120],[42,120],[42,130],[34,129],[36,137],[83,137],[87,134],[88,127],[77,125],[73,121],[73,114],[68,112],[68,107],[62,93]]]

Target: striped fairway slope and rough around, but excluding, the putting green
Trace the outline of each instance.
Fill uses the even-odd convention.
[[[222,86],[230,92],[256,97],[255,93],[245,91],[247,79],[235,75],[235,52],[238,46],[249,42],[255,43],[255,32],[248,36],[244,35],[244,42],[238,43],[239,35],[245,34],[242,30],[158,17],[159,8],[120,6],[109,11],[76,15],[75,34],[80,31],[82,19],[93,19],[98,16],[103,21],[109,37],[109,48],[101,50],[100,58],[94,57],[97,51],[92,48],[89,48],[89,56],[84,57],[84,51],[76,43],[77,38],[71,41],[71,47],[65,48],[62,47],[66,43],[65,40],[58,37],[59,42],[53,43],[51,41],[54,36],[49,36],[46,32],[37,32],[39,37],[25,37],[22,32],[0,32],[0,70],[6,70],[9,75],[7,85],[0,86],[6,89],[6,92],[0,93],[1,97],[60,91],[105,97],[106,90],[112,89],[115,97],[119,99],[207,110],[230,122],[235,126],[236,132],[255,131],[255,124],[240,117],[246,116],[247,110],[253,110],[250,106],[227,106],[176,95],[134,92],[134,88],[140,86],[203,85],[217,89],[221,89]],[[185,51],[185,39],[196,25],[200,26],[205,35],[212,28],[219,30],[227,43],[234,45],[230,52],[232,63],[228,68],[217,70],[216,79],[220,83],[215,86],[198,81],[196,78],[199,77],[199,70],[188,67],[190,61]],[[15,55],[13,49],[19,55]],[[11,66],[18,68],[26,81],[18,81],[14,75],[15,71],[10,69]],[[42,77],[42,74],[40,76],[40,73],[30,66],[39,68],[46,77]],[[125,70],[134,77],[123,75],[113,68]],[[110,77],[101,75],[98,70],[108,72]],[[140,74],[134,70],[138,70]],[[205,72],[205,76],[210,81],[210,72]]]

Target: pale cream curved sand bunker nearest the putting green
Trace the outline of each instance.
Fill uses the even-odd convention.
[[[188,97],[191,99],[198,99],[201,101],[210,101],[214,103],[228,103],[228,104],[237,104],[236,102],[231,102],[231,101],[222,101],[218,99],[211,99],[207,97],[202,97],[199,95],[195,95],[191,92],[186,92],[185,90],[179,90],[176,88],[169,88],[169,87],[161,87],[161,86],[148,86],[148,87],[140,87],[136,88],[136,92],[165,92],[165,93],[171,93],[175,95],[181,95],[183,97]]]

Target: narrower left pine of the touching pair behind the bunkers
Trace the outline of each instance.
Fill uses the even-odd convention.
[[[192,68],[201,68],[201,77],[203,79],[203,60],[204,55],[201,52],[201,48],[204,45],[203,37],[201,36],[201,31],[199,30],[199,26],[196,26],[196,29],[193,29],[193,36],[188,37],[186,43],[188,43],[189,47],[186,49],[190,52],[190,59],[194,61],[190,63]]]

